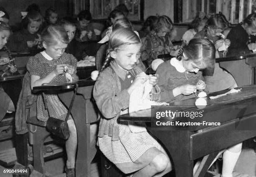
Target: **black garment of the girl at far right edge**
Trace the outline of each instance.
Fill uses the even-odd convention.
[[[234,56],[241,52],[251,52],[247,46],[249,36],[251,37],[251,42],[255,43],[256,37],[253,35],[248,35],[246,30],[241,25],[233,27],[227,36],[227,39],[229,39],[231,42],[230,46],[228,47],[227,55]]]

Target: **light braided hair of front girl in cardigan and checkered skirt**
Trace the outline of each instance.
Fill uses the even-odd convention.
[[[114,30],[110,35],[110,40],[108,41],[107,57],[105,59],[105,62],[103,63],[100,72],[108,67],[110,61],[113,60],[113,58],[110,56],[110,52],[116,51],[119,47],[123,45],[140,43],[140,38],[136,35],[135,32],[133,32],[133,30],[123,27]]]

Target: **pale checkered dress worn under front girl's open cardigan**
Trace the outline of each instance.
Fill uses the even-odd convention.
[[[120,79],[122,89],[128,88],[133,79],[131,76],[125,77],[125,81]],[[120,112],[121,115],[125,113],[128,113],[128,108]],[[112,141],[112,137],[104,135],[98,137],[98,145],[103,154],[125,173],[146,167],[161,153],[161,145],[149,132],[133,133],[127,122],[119,125],[118,141]]]

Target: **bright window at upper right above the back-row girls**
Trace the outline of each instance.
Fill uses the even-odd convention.
[[[222,12],[227,20],[236,24],[256,10],[256,0],[174,0],[174,22],[191,22],[197,12]]]

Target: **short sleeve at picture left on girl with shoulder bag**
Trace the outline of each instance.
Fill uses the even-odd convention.
[[[41,77],[43,72],[43,67],[39,62],[38,58],[31,57],[29,58],[27,63],[27,70],[29,72],[29,75],[37,75]]]

